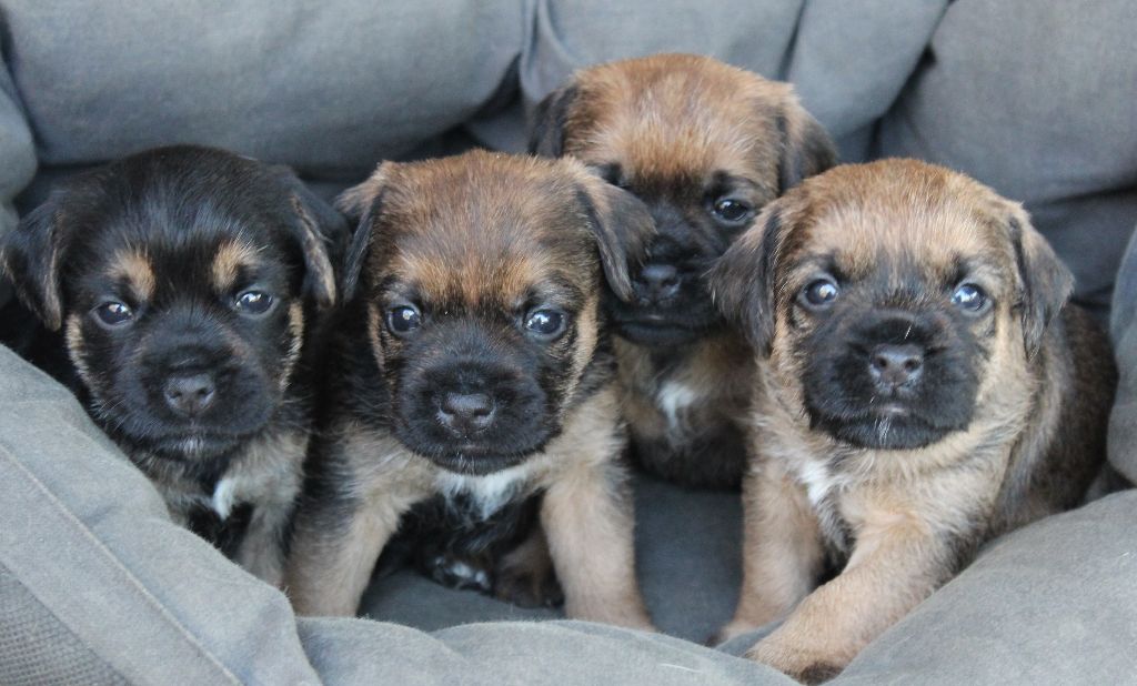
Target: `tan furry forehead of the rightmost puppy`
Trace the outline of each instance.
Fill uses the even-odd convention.
[[[923,167],[855,169],[807,189],[806,206],[797,208],[805,232],[788,246],[799,258],[831,256],[852,277],[914,266],[932,279],[963,263],[1002,276],[1013,249],[994,194],[961,175]]]

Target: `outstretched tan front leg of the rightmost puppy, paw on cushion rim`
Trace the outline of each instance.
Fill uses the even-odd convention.
[[[953,568],[953,544],[911,513],[872,516],[845,571],[797,606],[747,656],[806,683],[831,678],[928,597]]]

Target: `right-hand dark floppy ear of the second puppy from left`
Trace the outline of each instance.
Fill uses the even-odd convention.
[[[581,174],[579,199],[600,250],[604,276],[617,298],[631,301],[629,263],[644,259],[655,221],[639,198],[587,172]]]

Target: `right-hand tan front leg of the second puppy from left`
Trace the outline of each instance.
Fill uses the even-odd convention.
[[[549,486],[541,525],[568,617],[654,630],[636,582],[633,524],[614,463],[575,465]]]

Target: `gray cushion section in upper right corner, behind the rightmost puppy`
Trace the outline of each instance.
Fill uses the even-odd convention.
[[[956,0],[874,151],[1023,201],[1098,315],[1137,218],[1135,27],[1130,0]]]

